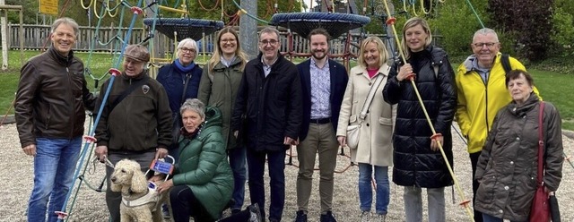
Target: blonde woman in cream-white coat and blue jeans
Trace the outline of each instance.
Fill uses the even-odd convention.
[[[376,221],[385,221],[390,200],[388,184],[388,166],[393,165],[392,135],[396,116],[396,107],[383,100],[382,90],[387,82],[390,67],[387,65],[387,49],[380,38],[369,37],[361,44],[358,65],[349,72],[349,82],[344,92],[343,104],[337,127],[337,141],[346,145],[348,125],[361,124],[359,145],[351,149],[352,162],[359,165],[359,199],[361,201],[361,221],[370,221],[372,203],[371,178],[377,184],[375,205]],[[377,83],[377,79],[382,78]],[[364,119],[361,109],[369,95],[371,87],[375,91]]]

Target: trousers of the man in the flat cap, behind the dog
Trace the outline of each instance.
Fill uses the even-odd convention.
[[[119,160],[124,158],[129,158],[135,160],[137,163],[142,166],[142,171],[145,173],[150,168],[150,164],[152,164],[153,158],[155,158],[155,150],[152,149],[151,152],[145,153],[108,153],[109,161],[116,166],[116,163]],[[106,181],[108,182],[108,189],[106,190],[106,204],[108,205],[109,211],[109,221],[110,222],[119,222],[120,215],[119,215],[119,205],[122,203],[122,193],[121,192],[112,192],[109,187],[111,187],[109,177],[114,173],[114,169],[106,166]]]

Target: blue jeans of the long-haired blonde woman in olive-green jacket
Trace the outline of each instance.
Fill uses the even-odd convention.
[[[233,194],[231,199],[235,202],[231,209],[241,209],[243,201],[245,201],[246,156],[247,151],[245,147],[230,149],[230,166],[233,171]]]

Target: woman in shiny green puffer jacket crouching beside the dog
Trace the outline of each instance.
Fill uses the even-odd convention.
[[[233,177],[222,139],[222,114],[199,99],[190,98],[179,109],[184,127],[179,143],[178,166],[172,178],[157,188],[170,191],[176,222],[215,221],[222,216],[233,190]],[[160,180],[155,176],[152,181]],[[250,208],[257,215],[257,209]],[[248,221],[245,218],[234,221]],[[239,216],[239,215],[238,215]],[[257,220],[255,220],[257,221]]]

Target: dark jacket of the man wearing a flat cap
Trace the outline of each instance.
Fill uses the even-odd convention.
[[[111,104],[132,84],[146,81],[116,107]],[[101,86],[100,95],[109,88],[109,80]],[[126,73],[116,77],[96,128],[98,146],[108,146],[109,152],[147,152],[156,148],[167,149],[171,143],[171,110],[168,95],[160,82],[147,75],[135,77]]]

